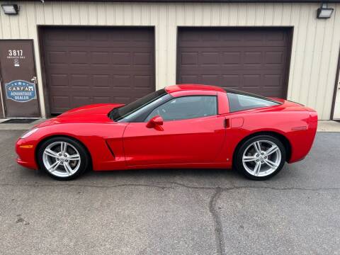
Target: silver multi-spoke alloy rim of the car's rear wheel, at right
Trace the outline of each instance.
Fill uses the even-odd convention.
[[[273,174],[281,163],[280,148],[268,140],[253,142],[244,150],[242,163],[252,176],[268,176]]]

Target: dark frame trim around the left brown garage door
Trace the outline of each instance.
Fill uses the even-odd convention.
[[[101,25],[38,25],[38,45],[39,45],[39,53],[40,53],[40,70],[41,70],[41,80],[42,80],[42,91],[43,91],[43,96],[45,99],[45,115],[46,118],[51,116],[51,111],[50,111],[50,95],[49,95],[49,88],[47,86],[47,79],[46,79],[46,67],[45,67],[45,54],[44,54],[44,44],[43,44],[43,34],[44,34],[44,29],[46,28],[150,28],[152,29],[152,32],[154,33],[153,36],[153,54],[154,57],[152,59],[153,65],[154,65],[154,70],[152,74],[154,75],[154,86],[153,89],[154,91],[157,90],[157,84],[156,84],[156,27],[155,26],[101,26]]]

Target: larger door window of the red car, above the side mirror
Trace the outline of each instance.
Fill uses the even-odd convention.
[[[217,115],[216,96],[183,96],[154,108],[145,121],[154,116],[162,116],[163,120],[185,120]]]

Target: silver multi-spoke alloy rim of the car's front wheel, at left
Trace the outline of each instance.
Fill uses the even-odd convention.
[[[78,150],[68,142],[52,142],[45,148],[42,162],[51,174],[69,177],[78,171],[81,158]]]

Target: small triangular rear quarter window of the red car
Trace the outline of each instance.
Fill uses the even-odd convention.
[[[246,96],[233,93],[227,93],[227,96],[231,113],[235,111],[244,111],[266,106],[277,106],[279,104],[264,98],[257,98],[255,96]]]

